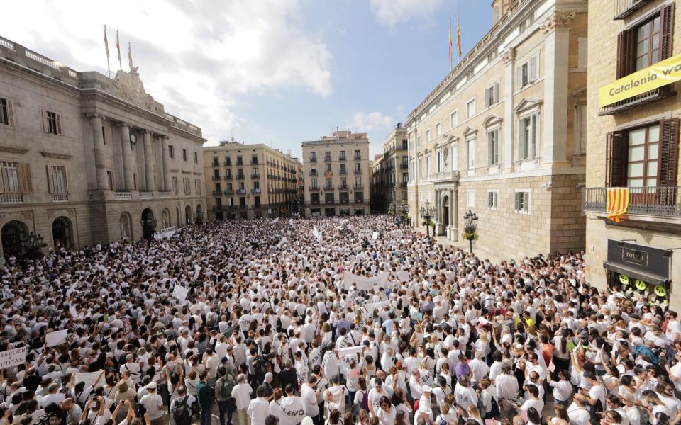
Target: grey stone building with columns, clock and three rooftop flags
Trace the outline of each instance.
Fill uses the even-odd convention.
[[[111,79],[0,38],[0,261],[31,233],[79,248],[201,220],[204,142],[132,63]]]

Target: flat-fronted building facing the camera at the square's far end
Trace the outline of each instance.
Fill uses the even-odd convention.
[[[369,139],[337,130],[302,142],[306,217],[366,215],[370,212]]]

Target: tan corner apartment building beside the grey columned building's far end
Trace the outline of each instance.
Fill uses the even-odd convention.
[[[209,217],[279,217],[299,211],[302,164],[262,144],[204,147]]]

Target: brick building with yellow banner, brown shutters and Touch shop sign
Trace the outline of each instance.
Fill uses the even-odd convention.
[[[589,1],[594,54],[585,202],[587,281],[675,310],[681,308],[677,7],[677,1]],[[609,214],[623,197],[626,214]]]

